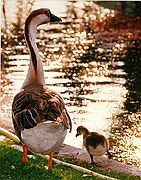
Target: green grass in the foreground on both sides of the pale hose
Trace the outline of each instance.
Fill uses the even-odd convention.
[[[12,144],[13,141],[7,139],[0,141],[0,180],[100,180],[100,178],[92,176],[84,177],[84,173],[64,165],[57,165],[56,163],[53,163],[52,169],[46,170],[45,166],[48,161],[40,156],[34,156],[35,158],[29,159],[29,163],[24,164],[22,162],[22,152],[12,148]],[[139,177],[129,176],[124,173],[116,173],[89,164],[82,164],[68,157],[63,157],[62,159],[120,180],[139,179]]]

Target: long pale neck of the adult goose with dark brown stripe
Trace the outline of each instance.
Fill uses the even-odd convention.
[[[30,84],[45,85],[44,71],[36,44],[36,29],[40,24],[40,18],[34,17],[32,20],[27,19],[25,23],[25,38],[30,51],[30,65],[28,74],[22,88]]]

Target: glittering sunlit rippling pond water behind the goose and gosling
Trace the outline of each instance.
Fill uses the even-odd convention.
[[[16,18],[14,8],[8,12],[9,2],[8,22]],[[141,42],[99,38],[86,29],[87,24],[80,18],[83,11],[76,18],[75,11],[73,15],[68,13],[67,0],[51,2],[35,1],[33,9],[54,9],[57,3],[54,14],[64,16],[60,24],[39,28],[37,44],[46,84],[60,92],[72,119],[72,133],[68,133],[65,143],[83,148],[82,137],[76,138],[75,134],[76,128],[84,125],[109,138],[113,159],[141,167]],[[83,3],[75,5],[78,10]],[[10,38],[2,30],[0,124],[11,126],[12,99],[22,86],[29,63],[23,30],[16,28],[10,31]]]

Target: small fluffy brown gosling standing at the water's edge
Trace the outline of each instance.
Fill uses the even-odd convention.
[[[90,132],[84,126],[79,126],[76,131],[76,137],[83,134],[83,145],[90,155],[91,163],[94,163],[93,156],[101,156],[105,153],[107,153],[109,159],[111,159],[112,156],[108,150],[109,141],[105,136],[98,132]]]

